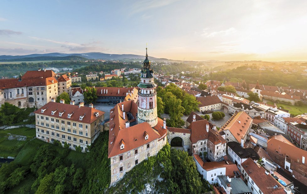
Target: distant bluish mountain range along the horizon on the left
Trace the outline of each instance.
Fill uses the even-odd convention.
[[[79,57],[79,59],[78,59]],[[102,59],[102,60],[125,60],[125,59],[144,59],[143,55],[132,54],[106,54],[99,52],[91,53],[46,53],[46,54],[31,54],[31,55],[0,55],[0,61],[31,61],[31,60],[82,60],[86,59]],[[150,57],[151,60],[167,60]]]

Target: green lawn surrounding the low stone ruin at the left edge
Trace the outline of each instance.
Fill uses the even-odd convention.
[[[23,135],[27,139],[25,141],[19,141],[17,139],[8,140],[9,134]],[[35,137],[35,128],[20,127],[13,129],[1,129],[0,130],[0,156],[7,158],[8,156],[16,157],[19,150]]]

